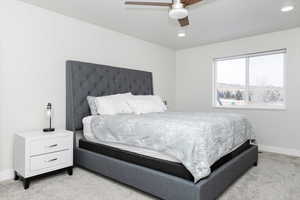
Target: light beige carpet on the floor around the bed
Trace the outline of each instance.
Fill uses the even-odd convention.
[[[149,200],[147,194],[78,169],[32,181],[0,183],[1,200]],[[263,153],[259,165],[233,184],[219,200],[300,200],[300,158]]]

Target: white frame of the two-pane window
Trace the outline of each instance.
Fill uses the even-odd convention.
[[[275,55],[275,54],[284,54],[284,63],[283,63],[283,98],[284,98],[284,105],[280,106],[257,106],[257,105],[249,105],[248,104],[248,91],[249,91],[249,59],[257,56],[264,56],[264,55]],[[238,105],[226,105],[226,106],[220,106],[217,104],[217,87],[216,87],[216,81],[217,81],[217,62],[218,61],[225,61],[225,60],[232,60],[232,59],[239,59],[239,58],[245,58],[246,59],[246,104],[243,106]],[[222,109],[262,109],[262,110],[286,110],[287,109],[287,95],[286,95],[286,88],[287,88],[287,49],[277,49],[277,50],[270,50],[270,51],[263,51],[263,52],[256,52],[256,53],[250,53],[250,54],[242,54],[237,56],[229,56],[229,57],[221,57],[221,58],[214,58],[213,59],[213,92],[212,92],[212,107],[214,108],[222,108]]]

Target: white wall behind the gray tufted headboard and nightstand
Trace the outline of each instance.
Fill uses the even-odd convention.
[[[175,51],[16,0],[0,6],[0,175],[12,168],[13,134],[65,127],[68,59],[153,72],[156,94],[175,104]]]

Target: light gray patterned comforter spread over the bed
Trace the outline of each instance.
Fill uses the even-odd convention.
[[[95,116],[91,130],[105,142],[155,150],[179,160],[194,182],[210,174],[210,166],[249,139],[249,121],[228,113],[165,112]]]

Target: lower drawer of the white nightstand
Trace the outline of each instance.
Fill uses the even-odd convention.
[[[63,163],[69,164],[72,162],[71,151],[61,151],[41,156],[34,156],[30,158],[30,170],[42,170],[45,168],[54,167]]]

